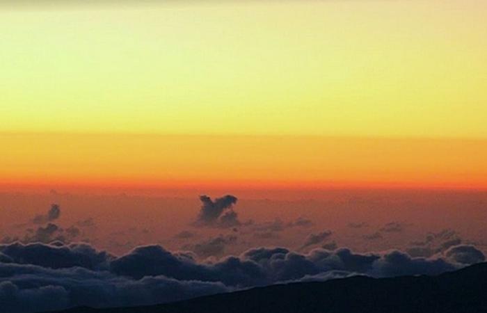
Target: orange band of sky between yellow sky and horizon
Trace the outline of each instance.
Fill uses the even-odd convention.
[[[1,135],[0,184],[487,188],[487,141]]]

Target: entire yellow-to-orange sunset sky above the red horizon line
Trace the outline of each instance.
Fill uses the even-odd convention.
[[[487,188],[486,1],[34,2],[3,187]]]

